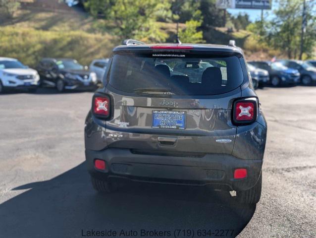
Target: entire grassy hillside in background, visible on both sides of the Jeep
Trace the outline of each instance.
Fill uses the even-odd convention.
[[[173,42],[176,24],[158,22],[158,26],[169,35],[167,42]],[[58,0],[27,0],[12,19],[0,19],[0,56],[18,58],[30,66],[43,57],[69,57],[89,64],[95,58],[108,57],[120,43],[121,39],[110,34],[111,27],[105,20]],[[179,24],[180,29],[184,27]],[[244,30],[227,33],[226,28],[214,28],[204,32],[204,39],[212,44],[227,44],[234,39],[249,60],[273,57]]]

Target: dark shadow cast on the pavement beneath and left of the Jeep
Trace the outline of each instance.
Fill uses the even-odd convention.
[[[110,229],[138,232],[134,237],[140,237],[141,229],[169,231],[171,237],[175,229],[195,234],[198,229],[233,230],[227,237],[235,237],[256,209],[205,187],[132,184],[113,194],[98,194],[84,163],[51,180],[13,190],[20,189],[29,190],[0,204],[1,237],[82,237],[87,231]]]

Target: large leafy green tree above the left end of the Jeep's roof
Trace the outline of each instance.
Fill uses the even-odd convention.
[[[111,21],[114,34],[122,39],[163,42],[167,37],[157,19],[170,10],[169,0],[89,0],[85,6],[93,15],[102,14]]]

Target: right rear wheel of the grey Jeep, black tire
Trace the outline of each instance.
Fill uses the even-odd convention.
[[[245,191],[237,191],[237,200],[240,203],[254,204],[258,203],[261,197],[262,172],[256,185]]]

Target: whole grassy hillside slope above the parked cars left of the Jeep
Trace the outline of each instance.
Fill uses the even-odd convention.
[[[75,58],[89,64],[110,55],[115,37],[97,30],[87,13],[58,0],[23,3],[13,19],[0,21],[0,56],[35,66],[43,57]]]

